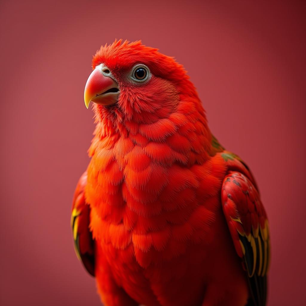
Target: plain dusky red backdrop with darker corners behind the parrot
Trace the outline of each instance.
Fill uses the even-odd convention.
[[[100,305],[70,232],[91,58],[142,39],[185,65],[211,130],[258,181],[269,305],[305,297],[305,1],[1,1],[1,305]]]

